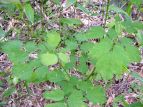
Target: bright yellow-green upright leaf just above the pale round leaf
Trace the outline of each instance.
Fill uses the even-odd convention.
[[[55,31],[47,32],[47,43],[50,49],[55,49],[60,41],[61,37],[59,33]]]

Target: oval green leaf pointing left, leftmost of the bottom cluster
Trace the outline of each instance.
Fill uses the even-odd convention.
[[[52,91],[45,92],[43,96],[47,100],[60,101],[64,99],[64,92],[60,89],[55,89]]]

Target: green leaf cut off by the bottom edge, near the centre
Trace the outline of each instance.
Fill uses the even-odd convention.
[[[87,107],[83,102],[83,94],[81,91],[74,90],[67,102],[69,107]]]

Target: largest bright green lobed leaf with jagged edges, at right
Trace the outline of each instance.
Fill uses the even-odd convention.
[[[128,42],[126,43],[128,44]],[[131,50],[134,50],[134,52],[131,52]],[[135,56],[133,56],[134,54]],[[90,50],[88,56],[90,59],[96,61],[96,63],[93,63],[96,67],[96,72],[104,80],[111,79],[114,74],[117,76],[121,75],[124,67],[127,67],[129,63],[140,58],[135,47],[127,46],[125,50],[124,46],[120,44],[114,45],[108,39],[96,43],[93,49]]]

